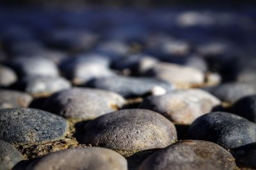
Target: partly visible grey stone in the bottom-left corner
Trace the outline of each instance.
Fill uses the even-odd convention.
[[[0,169],[12,169],[24,158],[18,150],[9,143],[0,140]]]

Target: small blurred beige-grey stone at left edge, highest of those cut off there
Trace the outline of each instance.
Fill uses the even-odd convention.
[[[8,87],[17,79],[16,73],[11,68],[0,65],[0,87]]]

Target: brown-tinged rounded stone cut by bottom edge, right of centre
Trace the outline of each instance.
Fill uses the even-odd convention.
[[[184,140],[150,155],[140,170],[154,169],[225,169],[236,168],[234,157],[215,143]]]

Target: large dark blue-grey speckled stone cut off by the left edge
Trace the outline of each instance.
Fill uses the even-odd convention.
[[[2,109],[0,122],[0,139],[8,143],[46,143],[62,138],[67,131],[64,118],[31,108]]]

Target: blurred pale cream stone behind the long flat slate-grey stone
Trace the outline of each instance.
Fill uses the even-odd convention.
[[[204,83],[204,73],[202,73],[202,71],[193,67],[180,66],[167,62],[155,64],[148,70],[147,75],[168,81],[177,87]]]

